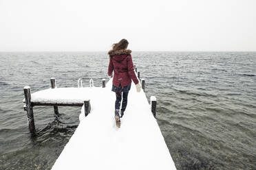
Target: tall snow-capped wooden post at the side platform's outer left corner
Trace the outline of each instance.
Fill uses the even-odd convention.
[[[25,110],[27,111],[28,117],[28,128],[30,133],[35,134],[36,128],[34,126],[34,113],[31,104],[31,93],[30,93],[30,86],[24,87],[24,95],[25,95]]]

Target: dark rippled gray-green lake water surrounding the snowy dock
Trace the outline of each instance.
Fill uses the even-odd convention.
[[[256,169],[256,53],[133,52],[158,99],[157,119],[177,169]],[[51,169],[79,123],[80,107],[34,108],[28,132],[23,86],[100,86],[103,52],[0,53],[0,169]],[[86,143],[85,143],[86,145]]]

